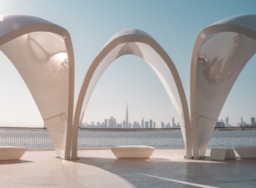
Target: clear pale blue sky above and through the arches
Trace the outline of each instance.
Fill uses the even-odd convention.
[[[206,0],[0,0],[0,15],[26,14],[47,19],[69,30],[75,54],[75,104],[94,57],[112,35],[127,28],[149,33],[172,58],[190,106],[190,61],[197,33],[219,19],[256,14],[256,1]],[[219,119],[230,124],[256,117],[255,57],[233,86]],[[41,127],[43,120],[15,68],[0,54],[0,126]],[[101,76],[87,106],[84,121],[111,116],[130,121],[172,122],[172,104],[155,73],[135,56],[120,57]]]

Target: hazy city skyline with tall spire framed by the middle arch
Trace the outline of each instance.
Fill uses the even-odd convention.
[[[105,128],[105,129],[155,129],[154,120],[142,120],[140,123],[138,121],[129,122],[128,116],[128,105],[126,105],[126,120],[123,120],[122,123],[117,123],[116,118],[110,117],[105,119],[104,122],[91,122],[91,124],[82,123],[81,128]],[[174,117],[172,117],[172,125],[170,123],[164,124],[161,123],[161,128],[180,128],[180,124],[175,124]]]

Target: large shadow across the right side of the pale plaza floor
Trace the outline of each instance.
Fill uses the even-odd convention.
[[[166,158],[86,158],[75,161],[126,179],[135,187],[243,187],[256,185],[256,160],[171,161]],[[247,186],[249,185],[249,186]]]

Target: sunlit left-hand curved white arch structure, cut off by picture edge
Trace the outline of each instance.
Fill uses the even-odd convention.
[[[58,157],[69,159],[74,90],[69,32],[35,16],[1,16],[0,50],[30,90]]]

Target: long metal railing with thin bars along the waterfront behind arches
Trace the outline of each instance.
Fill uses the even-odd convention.
[[[151,145],[155,148],[184,148],[180,129],[94,130],[79,132],[78,148],[111,148],[117,145]],[[46,129],[0,128],[1,146],[19,146],[30,150],[53,149]],[[209,148],[233,148],[256,145],[256,129],[216,129]]]

